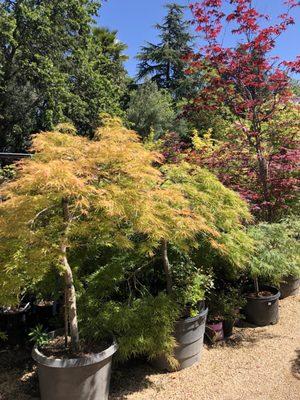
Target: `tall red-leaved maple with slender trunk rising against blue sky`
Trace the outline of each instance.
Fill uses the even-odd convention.
[[[263,125],[291,98],[289,72],[299,69],[299,60],[276,63],[270,52],[276,39],[294,23],[289,11],[298,2],[287,1],[288,10],[279,22],[267,26],[263,22],[267,16],[253,8],[251,0],[231,0],[230,4],[233,9],[228,13],[223,12],[220,0],[203,0],[192,6],[194,22],[204,35],[205,45],[191,57],[191,72],[200,69],[206,81],[194,108],[218,110],[224,103],[239,121],[242,140],[256,155],[254,173],[263,196],[264,216],[270,220],[272,178],[266,157],[270,143]],[[238,37],[235,48],[222,44],[227,23],[233,24],[231,33]]]

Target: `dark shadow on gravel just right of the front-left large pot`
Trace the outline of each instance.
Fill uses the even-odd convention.
[[[154,373],[155,370],[145,359],[131,360],[115,366],[111,376],[109,399],[125,400],[129,394],[153,386],[147,376]]]

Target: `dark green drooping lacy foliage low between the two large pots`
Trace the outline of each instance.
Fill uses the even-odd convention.
[[[172,336],[178,308],[161,293],[130,303],[98,302],[91,297],[81,313],[82,335],[87,340],[101,340],[114,335],[119,345],[120,360],[136,355],[149,358],[172,356],[175,339]]]

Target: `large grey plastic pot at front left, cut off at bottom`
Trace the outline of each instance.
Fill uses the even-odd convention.
[[[105,351],[78,359],[52,359],[35,347],[41,400],[107,400],[114,342]]]

